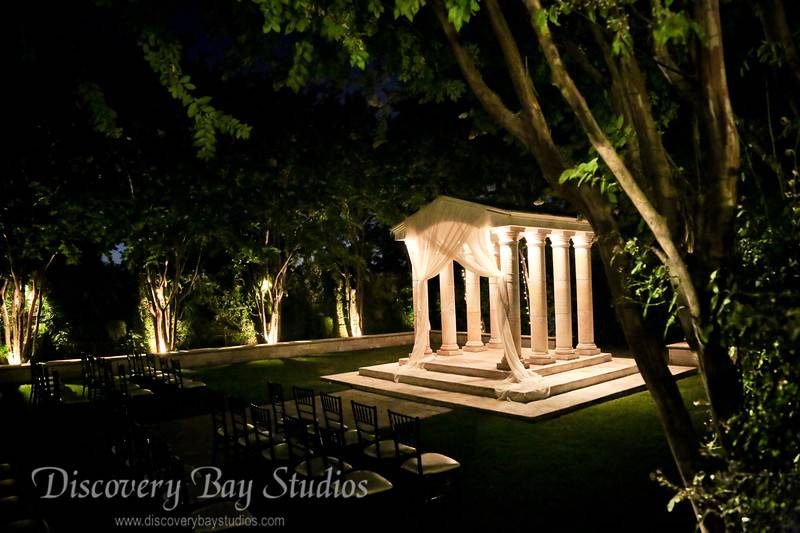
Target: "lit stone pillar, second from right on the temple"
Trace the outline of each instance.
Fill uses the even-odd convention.
[[[575,359],[572,346],[572,297],[569,276],[569,239],[575,232],[553,230],[553,296],[556,315],[556,347],[550,353],[556,359]]]

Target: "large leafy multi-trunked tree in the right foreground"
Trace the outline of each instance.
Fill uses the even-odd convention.
[[[731,281],[741,149],[718,0],[654,1],[648,14],[623,1],[545,7],[525,0],[501,7],[487,0],[482,7],[434,0],[423,10],[426,3],[413,0],[395,4],[393,22],[382,18],[382,4],[368,2],[362,10],[357,4],[320,11],[307,4],[259,6],[264,31],[291,33],[296,50],[304,51],[290,76],[313,78],[308,65],[328,58],[313,45],[322,50],[333,43],[344,63],[394,72],[423,98],[457,99],[463,87],[437,76],[448,72],[441,47],[421,37],[431,36],[422,13],[433,13],[450,58],[485,113],[531,153],[550,187],[595,228],[618,319],[683,483],[690,485],[702,468],[699,440],[667,368],[660,332],[643,319],[629,276],[635,259],[625,251],[638,234],[663,263],[678,321],[698,354],[716,437],[730,449],[726,421],[741,411],[742,390],[732,347],[716,320],[724,300],[715,294]],[[519,23],[526,19],[527,28]],[[768,39],[783,43],[791,71],[791,35],[781,24],[767,26],[776,30]],[[503,65],[491,61],[495,46]],[[510,87],[496,76],[501,67]],[[554,105],[555,98],[562,104]],[[624,197],[617,199],[617,191]],[[704,525],[713,527],[711,520]]]

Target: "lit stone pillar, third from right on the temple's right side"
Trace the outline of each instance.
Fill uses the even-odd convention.
[[[525,232],[528,245],[528,292],[531,315],[531,362],[554,362],[547,345],[547,267],[545,265],[545,239],[550,230],[534,229]]]

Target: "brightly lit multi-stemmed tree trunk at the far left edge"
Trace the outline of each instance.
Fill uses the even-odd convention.
[[[28,280],[12,272],[3,281],[0,306],[8,363],[11,365],[22,364],[36,355],[45,273],[53,259],[55,256]]]

